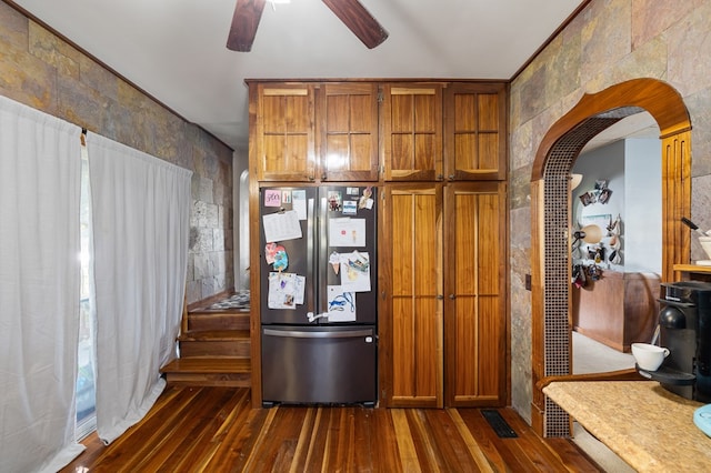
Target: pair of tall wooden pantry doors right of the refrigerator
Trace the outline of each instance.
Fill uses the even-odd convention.
[[[385,190],[384,404],[504,405],[505,183]]]

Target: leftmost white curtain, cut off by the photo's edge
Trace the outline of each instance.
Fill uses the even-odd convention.
[[[81,130],[0,97],[0,471],[57,471],[74,440]]]

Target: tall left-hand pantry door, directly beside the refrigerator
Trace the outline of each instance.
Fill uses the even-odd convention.
[[[441,187],[387,193],[388,405],[442,406]]]

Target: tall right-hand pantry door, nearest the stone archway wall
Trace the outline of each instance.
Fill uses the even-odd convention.
[[[445,402],[505,405],[505,183],[448,184],[444,209]]]

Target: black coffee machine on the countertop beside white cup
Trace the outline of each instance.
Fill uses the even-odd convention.
[[[711,283],[662,283],[660,345],[669,355],[655,372],[640,373],[683,397],[711,403]]]

